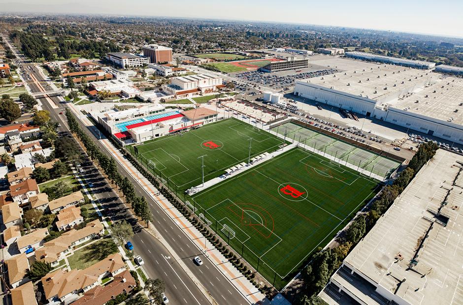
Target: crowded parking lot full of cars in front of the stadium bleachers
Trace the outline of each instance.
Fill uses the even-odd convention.
[[[234,76],[244,81],[258,84],[273,89],[288,88],[294,86],[294,82],[299,79],[306,79],[322,75],[328,75],[339,72],[337,69],[322,69],[290,75],[278,75],[262,71],[246,71],[235,74]]]

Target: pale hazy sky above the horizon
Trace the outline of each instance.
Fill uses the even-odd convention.
[[[274,21],[463,38],[463,0],[0,0],[0,11]]]

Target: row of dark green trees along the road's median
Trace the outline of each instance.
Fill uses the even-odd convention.
[[[153,216],[146,199],[135,193],[135,188],[130,180],[127,177],[123,177],[118,172],[114,159],[108,157],[99,150],[98,146],[92,141],[92,139],[79,127],[77,120],[68,108],[66,109],[66,118],[70,131],[75,133],[84,144],[89,157],[98,162],[99,166],[103,169],[104,173],[108,176],[111,182],[121,189],[127,203],[131,205],[135,215],[139,216],[148,225],[148,222],[153,219]]]

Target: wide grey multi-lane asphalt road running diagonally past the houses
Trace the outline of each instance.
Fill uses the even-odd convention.
[[[31,74],[31,77],[26,81],[33,92],[52,90],[49,82],[39,73],[38,67],[28,63],[19,64],[24,71]],[[42,108],[50,112],[51,118],[61,124],[58,131],[66,136],[66,133],[69,131],[66,118],[64,115],[60,115],[60,112],[66,109],[66,102],[62,101],[62,98],[58,96],[39,98],[39,100]],[[78,122],[81,128],[96,142],[100,150],[112,157],[98,140],[99,134],[96,132],[96,127],[89,129],[81,121],[78,120]],[[208,300],[188,274],[178,263],[173,261],[165,246],[134,223],[132,216],[122,201],[111,189],[94,164],[88,160],[87,155],[82,150],[81,152],[84,155],[84,161],[86,161],[83,163],[84,178],[94,184],[92,190],[103,206],[103,210],[111,215],[112,220],[131,220],[135,228],[135,235],[131,240],[135,252],[137,255],[141,255],[145,261],[143,268],[149,277],[158,277],[165,280],[165,294],[169,298],[170,304],[209,304]],[[202,257],[204,262],[202,266],[196,266],[193,263],[193,257],[203,256],[201,250],[175,225],[165,211],[151,199],[149,194],[132,178],[127,170],[119,163],[117,165],[119,172],[123,176],[128,177],[134,184],[137,194],[147,199],[154,215],[155,220],[153,222],[155,227],[164,240],[180,256],[190,269],[190,272],[195,274],[201,284],[210,292],[214,300],[218,304],[249,304],[247,299],[236,290],[232,283],[208,259]]]

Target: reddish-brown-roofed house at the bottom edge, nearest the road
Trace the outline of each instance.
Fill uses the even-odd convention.
[[[72,303],[72,305],[104,305],[113,297],[121,293],[129,293],[135,287],[135,279],[129,270],[114,276],[114,279],[104,286],[90,289],[84,293],[84,296]]]

